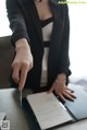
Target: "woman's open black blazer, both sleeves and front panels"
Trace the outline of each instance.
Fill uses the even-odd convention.
[[[59,73],[69,76],[69,9],[66,4],[59,4],[58,0],[49,0],[53,13],[53,29],[48,58],[48,86],[51,86]],[[25,86],[38,90],[41,75],[44,56],[44,40],[39,16],[34,0],[7,0],[8,17],[13,31],[11,42],[26,38],[34,57],[34,68],[28,72]]]

